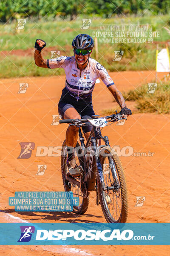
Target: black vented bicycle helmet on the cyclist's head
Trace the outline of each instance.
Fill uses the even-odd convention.
[[[79,34],[72,41],[72,47],[74,49],[93,49],[94,40],[90,35]]]

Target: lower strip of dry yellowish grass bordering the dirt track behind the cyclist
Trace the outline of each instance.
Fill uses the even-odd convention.
[[[112,46],[112,48],[114,48]],[[58,50],[58,48],[57,48]],[[59,49],[60,50],[60,49]],[[62,50],[61,50],[62,51]],[[151,49],[150,55],[154,50]],[[113,52],[113,50],[112,50]],[[62,52],[63,55],[73,55],[72,49],[68,49],[68,54]],[[154,70],[155,58],[150,62],[150,55],[147,52],[138,53],[136,57],[128,56],[122,58],[122,61],[113,61],[113,56],[109,53],[102,55],[98,60],[108,71],[125,71],[125,70]],[[50,58],[50,54],[43,54],[44,58]],[[95,52],[91,55],[95,58]],[[155,56],[154,56],[155,57]],[[20,77],[20,76],[50,76],[51,74],[65,74],[63,69],[44,69],[37,67],[34,63],[34,55],[22,56],[11,55],[0,56],[0,78]]]

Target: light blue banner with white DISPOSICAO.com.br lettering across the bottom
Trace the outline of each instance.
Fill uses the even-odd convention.
[[[1,223],[0,245],[168,245],[170,223]]]

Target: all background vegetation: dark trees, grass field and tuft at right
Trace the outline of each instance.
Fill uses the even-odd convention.
[[[24,29],[16,29],[17,19],[26,19]],[[89,29],[82,29],[82,19],[92,20]],[[51,50],[73,55],[74,36],[91,35],[100,26],[109,24],[151,25],[153,31],[161,32],[155,41],[165,44],[170,38],[170,0],[0,1],[0,78],[64,74],[62,69],[47,70],[34,64],[36,38],[47,43],[43,50],[45,58],[51,58]],[[97,61],[108,71],[155,70],[156,44],[99,44],[98,47]],[[115,50],[124,51],[121,61],[113,61]],[[96,58],[95,50],[91,57]],[[138,111],[170,113],[170,86],[159,85],[154,95],[146,95],[145,84],[124,96],[137,102]]]

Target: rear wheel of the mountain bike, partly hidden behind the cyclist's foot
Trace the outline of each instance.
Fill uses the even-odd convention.
[[[77,142],[76,148],[79,148],[79,154],[81,154],[81,147],[79,143]],[[78,157],[76,152],[75,152],[75,158],[77,165],[81,165],[82,167],[84,166],[84,158],[83,157]],[[64,185],[65,191],[71,191],[73,192],[74,196],[79,197],[79,206],[74,206],[73,207],[73,212],[77,214],[83,214],[87,211],[88,209],[88,204],[89,204],[89,192],[87,192],[87,197],[83,198],[83,193],[79,186],[76,184],[68,181],[65,177],[66,174],[68,173],[68,167],[66,164],[67,160],[67,146],[65,141],[62,144],[62,156],[61,156],[61,171],[62,171],[62,181]],[[79,177],[77,177],[77,180],[79,180]]]

